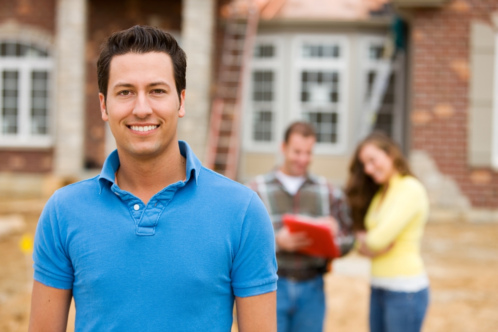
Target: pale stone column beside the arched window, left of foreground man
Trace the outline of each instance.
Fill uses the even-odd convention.
[[[86,0],[58,0],[54,166],[60,176],[83,169],[86,18]]]

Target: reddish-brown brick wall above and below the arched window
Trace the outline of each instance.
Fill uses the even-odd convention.
[[[17,23],[55,32],[55,0],[0,0],[0,24]],[[2,149],[0,172],[46,173],[52,170],[52,149]]]

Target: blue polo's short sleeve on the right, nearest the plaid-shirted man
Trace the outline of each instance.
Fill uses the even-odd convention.
[[[255,194],[244,217],[241,240],[232,264],[232,287],[238,297],[256,296],[276,290],[277,263],[273,226]]]

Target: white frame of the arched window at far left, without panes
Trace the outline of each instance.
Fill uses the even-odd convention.
[[[1,39],[1,42],[26,43],[17,39]],[[36,44],[34,44],[36,45]],[[41,45],[40,45],[41,46]],[[43,48],[43,47],[41,47]],[[46,58],[30,57],[0,57],[0,73],[3,71],[18,71],[18,131],[15,134],[4,134],[0,130],[0,147],[34,147],[47,148],[53,145],[53,116],[54,116],[54,63],[50,54]],[[46,134],[31,133],[31,72],[35,70],[47,71],[48,77],[48,132]],[[0,78],[0,91],[2,87]],[[3,99],[0,93],[0,109]],[[0,114],[0,128],[2,128],[3,117]]]

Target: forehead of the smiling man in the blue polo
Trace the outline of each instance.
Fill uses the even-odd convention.
[[[134,85],[165,81],[173,84],[171,57],[164,52],[126,53],[114,56],[109,67],[109,88],[117,83]]]

